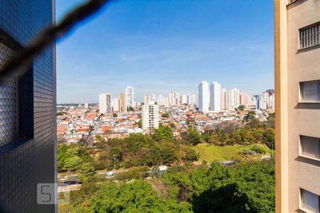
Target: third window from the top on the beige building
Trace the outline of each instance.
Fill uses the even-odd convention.
[[[302,147],[302,155],[312,158],[320,158],[319,138],[300,136],[300,141]]]

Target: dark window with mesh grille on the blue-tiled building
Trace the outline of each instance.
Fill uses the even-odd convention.
[[[18,43],[0,31],[0,69],[18,49]],[[23,138],[33,138],[32,69],[0,84],[0,147]]]

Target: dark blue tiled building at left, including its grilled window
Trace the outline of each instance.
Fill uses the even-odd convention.
[[[53,26],[54,11],[50,0],[0,1],[0,67]],[[0,212],[55,212],[37,204],[37,184],[57,181],[55,45],[21,69],[0,84]]]

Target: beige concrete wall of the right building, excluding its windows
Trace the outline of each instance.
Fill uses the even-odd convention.
[[[276,162],[277,212],[296,212],[299,209],[299,188],[320,195],[320,162],[299,157],[299,135],[320,138],[320,104],[299,104],[299,82],[320,80],[320,46],[299,50],[298,42],[299,28],[320,21],[320,1],[297,0],[286,9],[283,4],[287,2],[274,2],[275,26],[279,26],[275,28],[276,97],[280,97],[276,104],[281,106],[276,111],[276,116],[279,116],[276,147],[281,148],[277,150],[280,160]],[[287,28],[282,23],[285,19]],[[287,45],[287,50],[284,45]],[[287,58],[283,53],[286,51]],[[287,63],[287,69],[283,63]],[[286,124],[287,129],[284,128]],[[284,177],[287,177],[287,182],[284,182]]]

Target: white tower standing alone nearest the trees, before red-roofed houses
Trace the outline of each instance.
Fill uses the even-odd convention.
[[[142,130],[144,133],[153,133],[159,128],[159,106],[154,101],[142,105]]]

